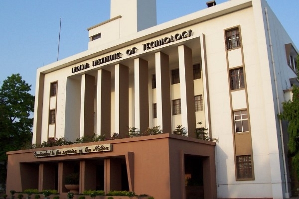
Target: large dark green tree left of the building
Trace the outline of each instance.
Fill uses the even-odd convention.
[[[12,74],[0,88],[0,183],[6,182],[7,151],[20,150],[32,141],[34,96],[31,85]]]

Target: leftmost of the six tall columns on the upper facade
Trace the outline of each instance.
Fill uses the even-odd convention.
[[[87,74],[81,78],[80,137],[93,136],[95,78]]]

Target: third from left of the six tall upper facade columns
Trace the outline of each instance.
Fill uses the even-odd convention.
[[[128,133],[129,126],[129,68],[115,65],[115,129],[120,136]]]

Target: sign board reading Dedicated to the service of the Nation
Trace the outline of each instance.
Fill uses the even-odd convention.
[[[36,151],[33,152],[33,156],[35,158],[45,158],[45,157],[60,156],[60,155],[73,155],[73,154],[82,155],[86,153],[106,152],[106,151],[112,151],[112,144],[101,144],[101,145]]]

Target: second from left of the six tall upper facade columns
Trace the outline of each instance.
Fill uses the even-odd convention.
[[[97,134],[111,133],[111,72],[98,70],[97,83]]]

